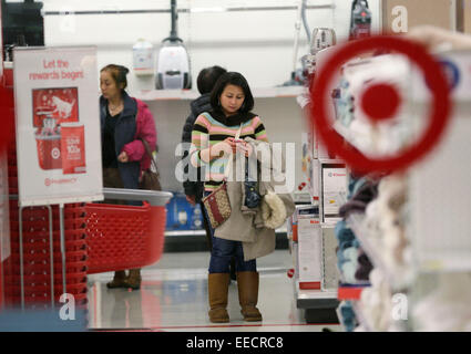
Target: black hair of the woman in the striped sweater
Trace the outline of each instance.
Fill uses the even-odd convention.
[[[248,86],[247,80],[236,72],[227,72],[223,74],[214,85],[213,91],[211,92],[211,105],[214,110],[221,110],[219,97],[223,94],[224,88],[227,85],[239,86],[244,92],[244,104],[242,105],[240,113],[248,113],[254,108],[254,96],[252,95],[250,87]]]

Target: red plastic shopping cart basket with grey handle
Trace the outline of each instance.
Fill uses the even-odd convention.
[[[134,269],[158,261],[164,248],[165,204],[171,192],[104,188],[106,199],[145,200],[142,207],[86,205],[88,273]]]

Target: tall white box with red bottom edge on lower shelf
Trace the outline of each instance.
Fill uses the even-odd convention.
[[[322,280],[322,232],[318,218],[298,219],[299,289],[319,290]]]

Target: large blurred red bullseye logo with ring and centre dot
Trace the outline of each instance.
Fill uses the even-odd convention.
[[[349,145],[344,137],[332,128],[332,119],[328,112],[326,100],[332,80],[341,66],[349,60],[378,50],[387,50],[407,55],[416,64],[432,94],[429,124],[422,136],[405,148],[400,155],[387,158],[368,158]],[[316,126],[320,138],[329,152],[344,159],[356,173],[391,173],[405,170],[429,154],[443,136],[451,115],[450,85],[442,66],[427,50],[414,42],[398,37],[373,37],[349,42],[338,49],[325,63],[310,87],[310,119]],[[376,83],[368,86],[359,103],[371,124],[391,119],[402,105],[403,97],[397,87],[387,83]]]

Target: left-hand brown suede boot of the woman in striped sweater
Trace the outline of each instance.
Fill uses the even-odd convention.
[[[209,299],[209,321],[213,323],[229,322],[227,313],[227,294],[229,273],[209,273],[207,277],[207,293]]]

